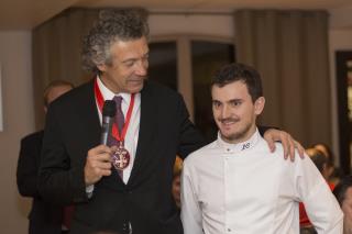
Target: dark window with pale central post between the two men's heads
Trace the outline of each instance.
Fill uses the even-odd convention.
[[[232,40],[174,36],[150,44],[150,79],[178,90],[191,120],[208,142],[217,136],[212,120],[210,81],[213,73],[234,62]]]

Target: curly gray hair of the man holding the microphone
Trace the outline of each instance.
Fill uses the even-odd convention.
[[[84,38],[82,67],[100,74],[97,65],[111,65],[110,47],[117,41],[148,37],[146,13],[138,9],[102,10],[99,19]]]

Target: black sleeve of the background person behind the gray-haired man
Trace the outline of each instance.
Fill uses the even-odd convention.
[[[37,191],[37,158],[41,154],[41,140],[35,141],[35,135],[21,141],[20,155],[16,169],[19,192],[24,197],[38,197]]]

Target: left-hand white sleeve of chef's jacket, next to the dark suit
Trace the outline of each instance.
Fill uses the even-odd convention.
[[[201,210],[199,208],[197,192],[187,166],[184,163],[180,180],[180,219],[183,221],[184,234],[204,234],[201,225]]]

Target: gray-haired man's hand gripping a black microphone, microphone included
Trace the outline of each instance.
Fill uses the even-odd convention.
[[[101,145],[88,151],[88,156],[85,165],[85,182],[86,186],[96,183],[102,176],[111,175],[111,155],[113,147],[107,146],[111,129],[117,112],[116,103],[112,100],[105,101],[102,108],[102,124],[101,124]]]

